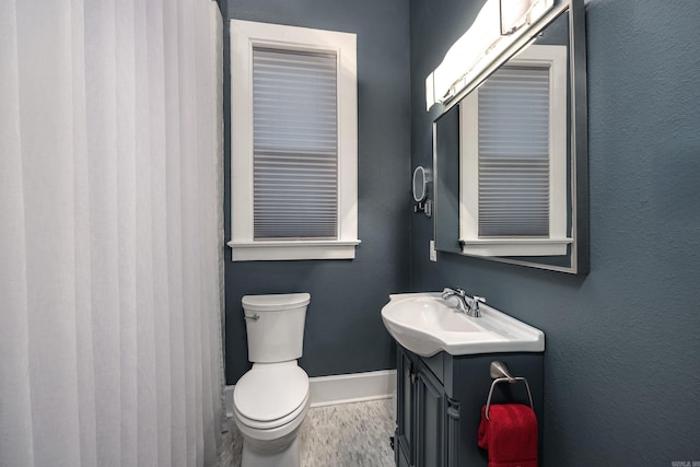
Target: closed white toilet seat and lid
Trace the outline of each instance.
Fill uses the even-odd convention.
[[[240,421],[249,428],[284,425],[308,405],[308,375],[296,361],[254,364],[236,383],[233,405]]]

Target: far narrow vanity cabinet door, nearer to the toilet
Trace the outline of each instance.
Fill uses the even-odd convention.
[[[415,360],[400,346],[397,346],[398,357],[396,374],[396,436],[395,455],[397,466],[415,466],[413,440],[415,424]]]

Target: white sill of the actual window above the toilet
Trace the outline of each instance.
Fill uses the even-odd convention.
[[[352,241],[258,241],[234,242],[231,259],[234,261],[275,261],[304,259],[353,259],[359,240]]]

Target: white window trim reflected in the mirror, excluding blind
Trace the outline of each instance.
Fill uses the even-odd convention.
[[[561,256],[567,236],[567,47],[530,45],[509,65],[546,66],[550,72],[549,237],[479,237],[478,89],[459,104],[459,243],[474,256]]]

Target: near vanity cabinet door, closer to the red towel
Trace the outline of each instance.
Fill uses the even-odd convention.
[[[416,380],[416,467],[444,466],[445,389],[427,367]]]

